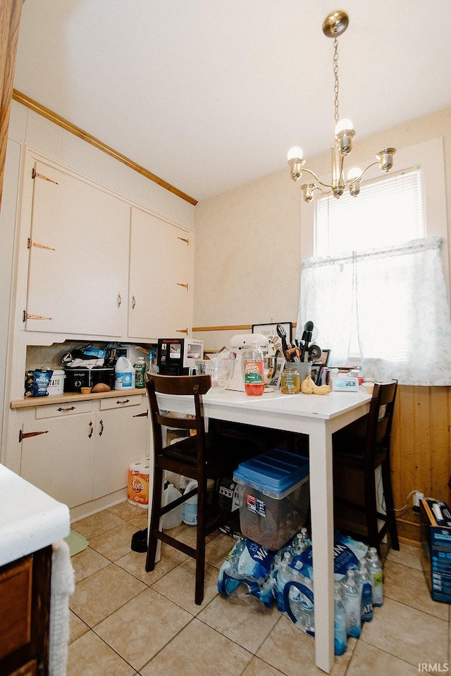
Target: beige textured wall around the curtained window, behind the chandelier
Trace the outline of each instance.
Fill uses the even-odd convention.
[[[438,137],[443,137],[445,149],[449,215],[451,108],[366,139],[357,136],[352,161],[364,163],[385,147],[399,150]],[[308,164],[326,175],[330,154],[309,158]],[[300,261],[307,256],[300,244],[300,201],[300,186],[290,179],[287,166],[197,204],[194,327],[296,322]],[[194,336],[204,339],[206,349],[218,349],[238,332],[203,331]]]

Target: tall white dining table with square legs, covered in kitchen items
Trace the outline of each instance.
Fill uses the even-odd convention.
[[[194,413],[193,398],[158,395],[159,406],[174,413]],[[315,661],[329,673],[333,641],[333,462],[332,435],[369,412],[371,394],[281,394],[280,390],[247,396],[235,390],[209,390],[204,417],[285,430],[309,437],[311,542],[314,568]],[[149,501],[150,503],[150,501]],[[149,510],[150,511],[150,510]],[[149,513],[149,520],[150,520]]]

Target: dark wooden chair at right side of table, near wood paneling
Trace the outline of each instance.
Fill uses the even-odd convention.
[[[397,380],[376,383],[370,411],[362,420],[348,425],[333,435],[333,463],[335,479],[340,470],[363,478],[364,504],[338,495],[335,491],[335,523],[340,520],[340,506],[363,512],[366,515],[367,539],[381,556],[381,540],[388,532],[393,549],[400,549],[393,506],[393,491],[390,475],[390,432],[395,406]],[[381,467],[381,480],[385,500],[385,513],[378,511],[376,500],[376,468]],[[382,521],[382,527],[378,526]],[[349,530],[349,529],[347,529]]]

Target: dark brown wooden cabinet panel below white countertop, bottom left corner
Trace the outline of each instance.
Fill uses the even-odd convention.
[[[0,573],[0,659],[30,643],[32,556]]]

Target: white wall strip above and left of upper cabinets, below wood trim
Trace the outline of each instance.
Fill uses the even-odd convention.
[[[3,299],[0,303],[0,401],[6,399],[6,406],[8,406],[8,393],[5,392],[8,321],[10,299],[14,292],[11,287],[13,246],[20,187],[20,149],[23,143],[194,229],[192,204],[51,123],[42,115],[30,111],[17,101],[12,101],[0,213],[0,246],[3,260],[0,266]]]

